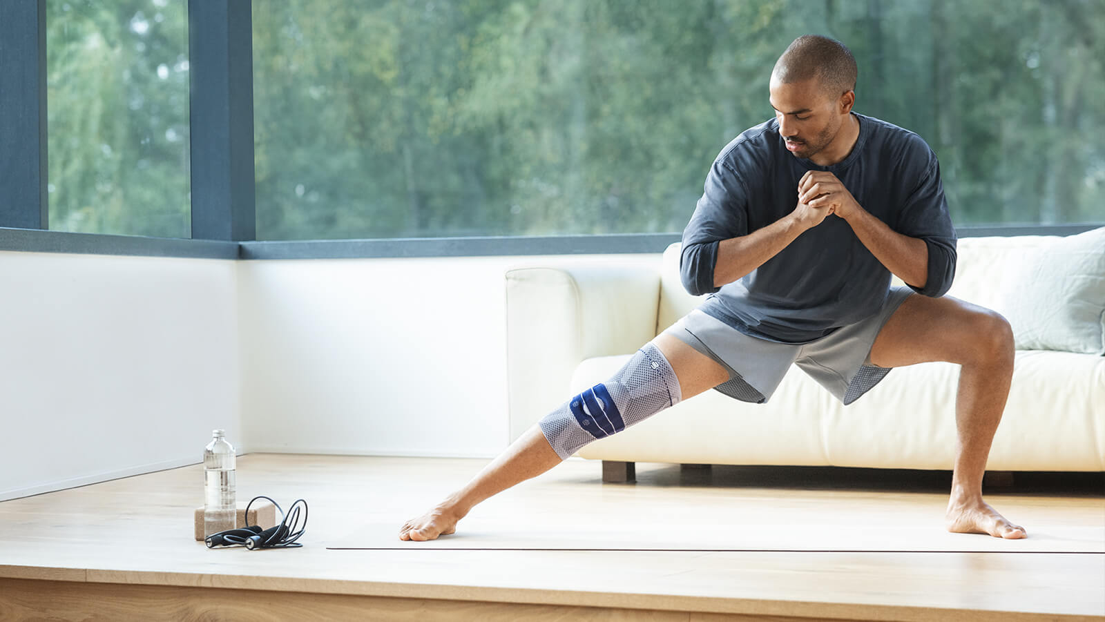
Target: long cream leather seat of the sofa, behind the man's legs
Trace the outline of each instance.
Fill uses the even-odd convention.
[[[629,360],[582,361],[570,392],[601,382]],[[592,460],[709,464],[835,465],[949,470],[956,445],[959,366],[894,369],[844,407],[792,367],[766,404],[717,391],[684,400],[624,432],[594,441]],[[988,468],[1105,470],[1105,358],[1022,350]]]

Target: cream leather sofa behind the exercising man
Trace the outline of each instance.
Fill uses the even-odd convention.
[[[1105,240],[1105,229],[1098,231]],[[1043,255],[1042,249],[1057,240],[1064,239],[960,239],[948,295],[1003,314],[1003,306],[1015,303],[1011,291],[1055,296],[1054,288],[1015,280],[1032,274],[1054,278],[1018,262],[1033,252]],[[678,250],[676,243],[663,255],[568,259],[506,273],[512,439],[568,397],[609,378],[639,347],[701,303],[680,281]],[[1105,253],[1105,244],[1101,251]],[[1093,265],[1096,272],[1105,260]],[[1105,283],[1105,274],[1101,276]],[[1020,348],[1025,330],[1013,327]],[[634,462],[664,462],[949,470],[958,375],[959,366],[945,362],[897,368],[844,407],[792,367],[766,404],[711,390],[576,455],[630,468]],[[988,468],[1105,471],[1105,357],[1018,349]]]

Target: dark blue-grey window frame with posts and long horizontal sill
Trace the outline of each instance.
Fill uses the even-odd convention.
[[[0,2],[0,251],[284,260],[657,253],[680,233],[257,241],[252,3],[188,1],[190,238],[49,230],[45,0]],[[1105,225],[958,228],[960,238],[1070,235]]]

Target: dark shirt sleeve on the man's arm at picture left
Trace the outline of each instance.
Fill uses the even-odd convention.
[[[717,292],[714,267],[722,240],[748,234],[747,197],[737,173],[716,160],[706,176],[702,198],[683,230],[680,277],[693,296]]]

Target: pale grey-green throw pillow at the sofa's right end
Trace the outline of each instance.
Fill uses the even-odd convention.
[[[1105,355],[1105,226],[1049,240],[1002,274],[1019,349]]]

